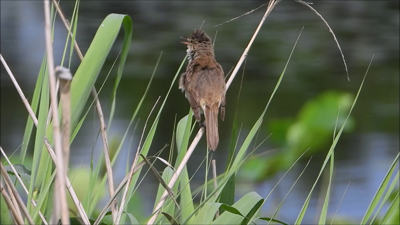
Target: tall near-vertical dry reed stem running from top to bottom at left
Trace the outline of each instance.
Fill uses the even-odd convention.
[[[51,42],[51,24],[50,24],[50,1],[44,0],[44,34],[46,39],[46,54],[47,54],[47,69],[50,82],[50,102],[52,104],[52,117],[53,117],[53,141],[54,150],[57,156],[57,172],[56,172],[56,183],[54,191],[54,210],[50,223],[56,224],[61,214],[61,223],[67,225],[70,223],[70,217],[68,212],[67,195],[65,191],[65,178],[66,173],[64,161],[62,159],[62,144],[61,144],[61,132],[60,132],[60,121],[58,118],[57,110],[57,93],[56,93],[56,76],[54,75],[54,58],[53,58],[53,47]],[[57,201],[57,199],[59,201]]]

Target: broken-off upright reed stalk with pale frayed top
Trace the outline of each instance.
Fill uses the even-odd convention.
[[[68,175],[70,158],[71,130],[71,80],[72,74],[68,68],[56,66],[54,71],[60,80],[60,101],[62,107],[62,157],[64,158],[64,173]]]

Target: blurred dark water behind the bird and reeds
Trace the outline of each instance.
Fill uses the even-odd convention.
[[[324,16],[335,32],[347,62],[350,81],[347,79],[340,51],[322,20],[302,4],[294,1],[280,2],[265,20],[246,59],[238,110],[238,123],[239,126],[242,125],[239,143],[244,141],[248,131],[264,110],[303,26],[304,30],[285,76],[264,117],[257,144],[271,133],[272,135],[257,150],[258,153],[267,152],[268,156],[272,157],[282,150],[279,141],[274,138],[270,125],[276,120],[295,118],[310,99],[326,91],[350,93],[354,97],[374,54],[374,60],[352,112],[352,129],[342,135],[335,149],[336,173],[329,209],[329,213],[333,215],[350,181],[336,217],[348,221],[360,221],[390,163],[399,151],[399,1],[310,2],[314,2],[312,6]],[[30,101],[45,51],[43,2],[2,0],[0,3],[1,54]],[[74,3],[74,1],[60,2],[67,18],[71,18]],[[110,145],[114,145],[114,148],[115,145],[118,146],[118,141],[126,131],[160,52],[163,52],[150,93],[139,112],[140,120],[134,122],[138,123],[138,128],[134,133],[131,129],[120,158],[114,166],[116,182],[124,177],[128,151],[132,161],[148,113],[158,96],[164,98],[186,54],[186,46],[180,44],[179,36],[190,35],[194,28],[199,28],[204,21],[202,29],[212,39],[216,35],[216,58],[225,73],[228,73],[247,46],[264,15],[266,6],[237,20],[214,26],[265,3],[267,2],[255,0],[80,2],[76,40],[83,53],[88,49],[98,26],[108,14],[128,14],[133,21],[130,52],[117,92],[116,117],[112,127],[108,128]],[[55,26],[54,56],[55,63],[59,64],[67,32],[58,16]],[[97,90],[120,51],[122,33],[117,38],[98,77]],[[74,72],[78,66],[79,60],[74,52],[71,71]],[[99,94],[106,119],[110,112],[110,107],[107,106],[116,71],[116,68],[112,70],[110,78]],[[226,163],[242,72],[241,69],[227,92],[225,121],[219,122],[220,144],[213,155],[217,160],[217,173],[224,170]],[[14,155],[17,156],[28,114],[3,66],[1,66],[0,92],[1,146],[9,155],[16,151]],[[91,96],[89,100],[92,101]],[[179,121],[188,110],[189,104],[178,90],[176,82],[161,114],[150,155],[171,143],[175,117]],[[337,111],[335,113],[337,114]],[[98,122],[97,119],[94,121],[94,115],[92,110],[71,147],[71,167],[88,167],[92,149],[95,155],[102,151],[101,140],[98,139],[96,142]],[[287,223],[294,222],[332,143],[333,129],[330,132],[330,141],[325,141],[323,145],[314,148],[312,154],[296,165],[278,185],[264,205],[263,216],[272,215],[310,156],[313,156],[306,172],[282,205],[283,210],[276,217]],[[133,139],[129,145],[130,137]],[[318,139],[318,137],[311,138]],[[202,149],[205,147],[205,139],[202,139],[189,161],[189,175],[196,171],[204,159],[206,151]],[[306,146],[302,151],[307,148]],[[162,156],[168,155],[162,154]],[[267,161],[259,163],[258,168],[264,168],[263,163]],[[157,166],[162,170],[162,164]],[[194,176],[194,184],[204,183],[204,167],[202,168]],[[256,191],[262,197],[266,197],[285,171],[272,169],[268,176],[260,175],[261,178],[246,179],[246,173],[251,174],[252,170],[244,169],[242,176],[236,179],[237,199],[249,191]],[[143,182],[144,185],[139,189],[141,198],[138,201],[143,202],[143,213],[149,215],[158,184],[152,176],[147,176]],[[321,207],[318,196],[320,188],[321,185],[317,185],[306,213],[305,223],[318,221],[316,215]]]

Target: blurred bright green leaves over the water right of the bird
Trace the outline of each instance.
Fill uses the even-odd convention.
[[[305,102],[296,118],[272,119],[267,126],[268,133],[272,133],[269,140],[278,147],[278,152],[268,157],[253,157],[240,175],[262,181],[286,171],[307,149],[306,158],[326,150],[324,147],[333,140],[335,127],[343,125],[353,101],[353,94],[328,90]],[[353,129],[354,119],[350,117],[344,131]]]

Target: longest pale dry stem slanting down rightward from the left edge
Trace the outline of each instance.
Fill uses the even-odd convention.
[[[33,123],[35,124],[36,127],[38,127],[38,119],[36,118],[35,113],[32,110],[32,107],[30,106],[30,104],[28,103],[28,100],[26,99],[24,92],[22,92],[21,87],[19,86],[18,82],[16,81],[14,75],[12,74],[10,67],[8,67],[6,61],[4,60],[3,56],[0,54],[0,60],[4,66],[4,68],[6,68],[6,71],[8,73],[8,75],[10,76],[15,88],[17,89],[18,94],[20,94],[20,97],[22,99],[22,102],[24,103],[26,110],[28,111],[29,116],[32,118]],[[44,146],[46,147],[50,157],[52,158],[53,162],[55,165],[57,165],[57,159],[56,159],[56,155],[50,145],[49,140],[47,139],[47,137],[44,137]],[[68,192],[71,195],[72,201],[74,202],[76,208],[78,209],[78,213],[80,215],[80,217],[82,218],[82,220],[84,221],[85,224],[89,224],[89,218],[86,215],[86,212],[82,206],[82,203],[79,201],[78,197],[76,197],[76,193],[74,191],[74,188],[71,186],[71,182],[70,180],[66,179],[66,187],[68,189]]]

